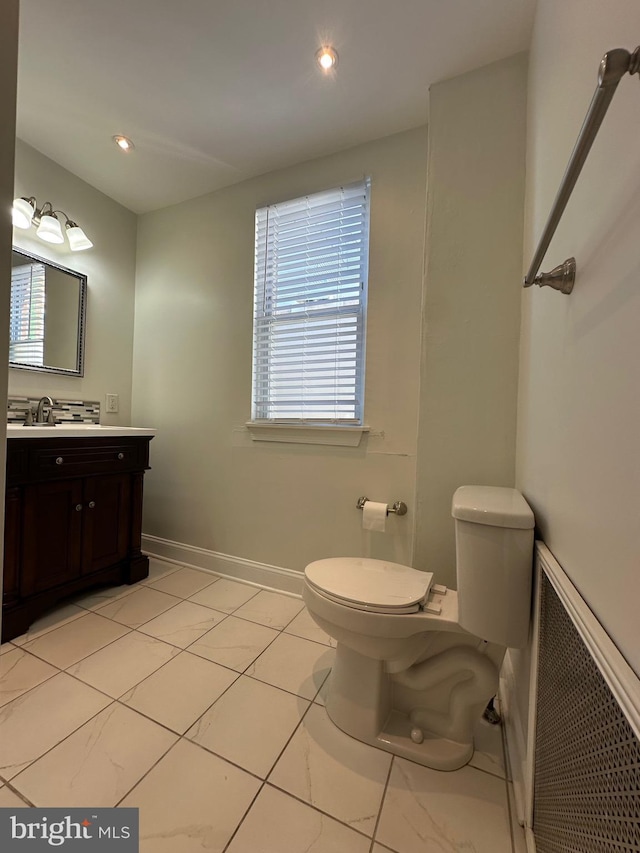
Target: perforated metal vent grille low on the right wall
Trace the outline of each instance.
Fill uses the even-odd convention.
[[[640,741],[542,573],[537,853],[640,851]]]

